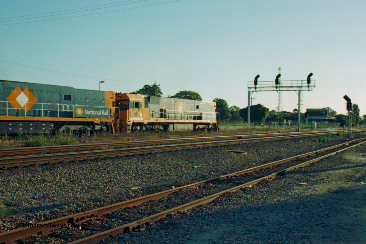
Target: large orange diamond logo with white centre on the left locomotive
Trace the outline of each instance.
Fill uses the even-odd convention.
[[[28,112],[37,99],[33,96],[30,90],[26,87],[24,90],[17,86],[12,93],[7,97],[11,106],[15,108],[15,111],[19,112],[24,108],[25,112]]]

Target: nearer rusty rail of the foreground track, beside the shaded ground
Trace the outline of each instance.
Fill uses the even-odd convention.
[[[324,159],[326,157],[335,155],[335,154],[337,154],[339,152],[342,152],[342,151],[344,151],[346,149],[349,149],[349,148],[352,148],[352,147],[356,147],[356,146],[361,145],[361,144],[363,144],[365,142],[366,141],[363,141],[363,142],[358,143],[356,145],[352,145],[350,147],[341,149],[339,151],[332,152],[331,154],[327,154],[325,156],[321,156],[319,158],[312,159],[312,160],[309,160],[309,161],[304,162],[304,163],[297,164],[297,165],[292,166],[292,167],[288,167],[287,169],[284,169],[284,170],[281,170],[281,171],[277,171],[276,173],[267,175],[265,177],[261,177],[261,178],[258,178],[256,180],[247,182],[245,184],[242,184],[242,185],[239,185],[239,186],[235,186],[235,187],[230,188],[228,190],[221,191],[221,192],[212,194],[212,195],[207,196],[207,197],[203,197],[201,199],[195,200],[195,201],[190,202],[190,203],[183,204],[183,205],[178,206],[178,207],[175,207],[175,208],[171,208],[169,210],[160,212],[160,213],[155,214],[155,215],[152,215],[152,216],[149,216],[149,217],[146,217],[146,218],[143,218],[143,219],[139,219],[138,221],[134,221],[134,222],[131,222],[131,223],[127,223],[125,225],[122,225],[122,226],[119,226],[119,227],[116,227],[116,228],[113,228],[113,229],[110,229],[110,230],[106,230],[104,232],[97,233],[97,234],[94,234],[92,236],[88,236],[88,237],[85,237],[83,239],[80,239],[80,240],[72,241],[69,244],[96,244],[96,243],[99,243],[101,240],[107,239],[107,238],[109,238],[111,236],[119,236],[122,233],[131,232],[131,231],[137,231],[139,229],[144,229],[144,228],[146,228],[146,226],[151,225],[152,223],[156,222],[157,220],[159,220],[161,218],[166,217],[167,215],[176,214],[177,212],[184,212],[184,211],[187,211],[190,208],[193,208],[193,207],[196,207],[196,206],[199,206],[199,205],[202,205],[202,204],[206,204],[206,203],[212,202],[214,199],[216,199],[217,197],[220,197],[221,195],[223,195],[225,193],[236,192],[236,191],[239,191],[240,189],[242,189],[244,187],[251,187],[251,186],[257,184],[260,181],[267,180],[267,179],[270,179],[270,178],[276,178],[277,176],[279,176],[281,174],[284,174],[284,173],[286,173],[288,171],[291,171],[291,170],[294,170],[294,169],[298,169],[300,167],[304,167],[304,166],[306,166],[306,165],[308,165],[310,163],[313,163],[313,162],[316,162],[318,160]]]

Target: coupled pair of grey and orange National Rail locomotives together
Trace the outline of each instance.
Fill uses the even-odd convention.
[[[219,130],[216,103],[0,80],[0,133]]]

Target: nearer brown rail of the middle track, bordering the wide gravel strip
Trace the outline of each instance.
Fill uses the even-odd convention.
[[[328,135],[329,133],[319,133],[318,135]],[[59,163],[59,162],[71,162],[87,159],[97,158],[110,158],[118,156],[131,156],[138,154],[151,154],[156,152],[165,151],[179,151],[183,149],[205,148],[205,147],[218,147],[224,145],[235,145],[244,143],[254,143],[261,141],[273,141],[273,140],[287,140],[293,138],[302,138],[313,136],[312,134],[301,134],[296,136],[274,136],[274,137],[259,137],[259,138],[246,138],[235,140],[223,140],[223,141],[208,141],[208,142],[196,142],[196,143],[184,143],[184,144],[169,144],[169,145],[154,145],[145,147],[132,147],[132,148],[117,148],[117,149],[105,149],[96,151],[76,151],[66,153],[53,153],[53,154],[41,154],[41,155],[26,155],[26,156],[12,156],[0,158],[0,169],[10,167],[23,167],[29,165]]]

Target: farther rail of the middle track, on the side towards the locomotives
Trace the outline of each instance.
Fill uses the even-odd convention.
[[[362,130],[363,131],[363,130]],[[338,131],[316,132],[319,134],[335,134]],[[86,151],[86,150],[100,150],[100,149],[112,149],[122,147],[142,147],[149,145],[163,145],[163,144],[177,144],[177,143],[193,143],[201,141],[219,141],[219,140],[233,140],[239,138],[256,138],[256,137],[274,137],[284,135],[299,135],[299,134],[315,134],[313,132],[292,132],[292,133],[272,133],[272,134],[236,134],[230,136],[206,136],[206,137],[191,137],[191,138],[178,138],[178,139],[157,139],[157,140],[145,140],[145,141],[123,141],[116,143],[91,143],[91,144],[77,144],[77,145],[62,145],[62,146],[47,146],[47,147],[27,147],[27,148],[6,148],[0,149],[0,156],[15,156],[15,155],[27,155],[27,154],[41,154],[41,153],[54,153],[54,152],[73,152],[73,151]]]

